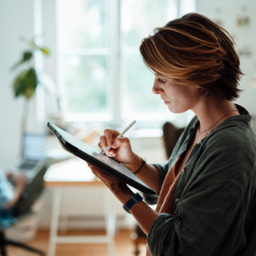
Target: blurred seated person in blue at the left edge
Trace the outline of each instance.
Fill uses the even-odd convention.
[[[25,189],[26,177],[5,173],[0,168],[0,228],[8,227],[16,222],[13,207]]]

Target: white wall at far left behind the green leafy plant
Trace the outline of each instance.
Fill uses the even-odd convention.
[[[13,168],[20,150],[20,121],[23,99],[13,96],[12,82],[16,72],[10,67],[16,63],[25,45],[20,36],[33,36],[33,0],[9,0],[0,2],[0,166]],[[34,100],[31,101],[34,115]],[[33,126],[33,124],[32,124]]]

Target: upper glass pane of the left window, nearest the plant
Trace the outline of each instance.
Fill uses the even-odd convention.
[[[64,48],[109,46],[110,3],[107,0],[61,2],[60,38]],[[66,39],[66,40],[65,40]]]

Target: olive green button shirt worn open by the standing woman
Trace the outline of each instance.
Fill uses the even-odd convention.
[[[175,213],[157,216],[147,237],[153,256],[256,254],[256,134],[251,116],[222,121],[193,147],[175,189]],[[198,117],[182,133],[171,157],[155,164],[160,186],[171,165],[193,140]],[[148,204],[157,196],[144,195]]]

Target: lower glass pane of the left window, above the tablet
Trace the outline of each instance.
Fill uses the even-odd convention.
[[[60,63],[63,99],[71,113],[106,113],[106,56],[63,56]]]

